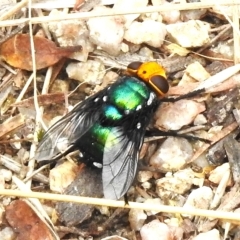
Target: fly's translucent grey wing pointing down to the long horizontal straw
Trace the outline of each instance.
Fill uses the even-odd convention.
[[[105,198],[119,199],[132,185],[144,133],[144,128],[133,129],[130,134],[122,127],[113,128],[113,135],[105,143],[103,156],[102,181]]]

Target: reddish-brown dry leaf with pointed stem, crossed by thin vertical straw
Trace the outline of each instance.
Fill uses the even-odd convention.
[[[33,41],[37,69],[49,67],[63,57],[81,50],[80,46],[57,47],[54,42],[38,36],[34,36]],[[13,67],[32,71],[30,35],[17,34],[2,43],[0,57]]]

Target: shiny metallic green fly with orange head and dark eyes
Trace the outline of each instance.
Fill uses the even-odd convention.
[[[121,198],[132,185],[147,126],[169,90],[156,62],[133,62],[127,72],[50,127],[35,155],[45,164],[80,150],[86,165],[102,168],[108,199]]]

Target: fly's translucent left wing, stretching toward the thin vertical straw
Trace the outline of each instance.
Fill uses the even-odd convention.
[[[71,152],[74,144],[86,133],[101,115],[101,99],[106,90],[77,104],[72,111],[56,122],[39,143],[35,159],[41,164],[59,159]]]

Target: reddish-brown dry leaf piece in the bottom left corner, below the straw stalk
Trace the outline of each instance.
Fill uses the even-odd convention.
[[[47,226],[22,200],[13,201],[6,207],[6,219],[19,234],[17,240],[53,240]]]

